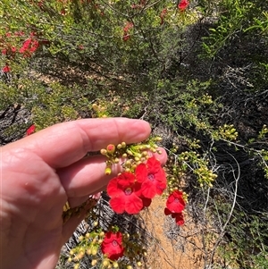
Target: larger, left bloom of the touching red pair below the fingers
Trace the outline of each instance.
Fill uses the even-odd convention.
[[[124,211],[128,214],[138,214],[144,207],[142,199],[139,198],[140,185],[131,172],[123,172],[113,178],[107,186],[107,193],[111,197],[110,206],[113,211],[118,214]]]

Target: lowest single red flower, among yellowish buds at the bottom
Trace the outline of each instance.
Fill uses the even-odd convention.
[[[117,260],[124,255],[122,247],[122,235],[120,231],[113,233],[108,231],[105,233],[105,239],[102,242],[101,250],[111,260]]]

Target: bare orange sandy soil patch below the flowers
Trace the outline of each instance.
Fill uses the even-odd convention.
[[[202,238],[195,223],[188,219],[179,227],[171,217],[163,214],[165,200],[155,198],[143,213],[152,244],[148,249],[147,269],[200,269],[202,262]]]

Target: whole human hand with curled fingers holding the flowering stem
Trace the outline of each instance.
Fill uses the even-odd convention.
[[[63,224],[63,206],[79,206],[105,189],[105,156],[88,156],[108,144],[137,143],[147,122],[126,118],[56,124],[1,148],[0,265],[4,269],[50,269],[84,215]],[[162,164],[166,153],[156,156]]]

